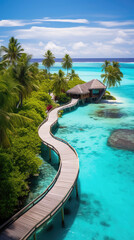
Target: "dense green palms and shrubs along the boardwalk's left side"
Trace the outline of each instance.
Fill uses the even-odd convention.
[[[13,37],[8,47],[1,49],[0,223],[3,223],[23,206],[29,178],[39,172],[42,164],[38,157],[41,151],[38,126],[46,118],[47,110],[57,106],[50,93],[55,94],[58,103],[67,102],[65,91],[83,81],[73,71],[68,80],[62,70],[50,79],[54,55],[49,50],[43,61],[46,71],[31,62],[31,56],[24,53]]]

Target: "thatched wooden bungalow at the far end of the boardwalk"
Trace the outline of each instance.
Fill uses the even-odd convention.
[[[79,98],[83,101],[99,102],[106,91],[106,86],[98,79],[93,79],[84,84],[78,84],[67,91],[71,98]]]

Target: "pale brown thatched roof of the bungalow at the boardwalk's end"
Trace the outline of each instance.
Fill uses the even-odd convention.
[[[89,93],[90,90],[93,90],[93,89],[106,89],[106,86],[102,82],[100,82],[98,79],[93,79],[89,82],[76,85],[75,87],[69,89],[67,93],[82,95],[82,94]]]

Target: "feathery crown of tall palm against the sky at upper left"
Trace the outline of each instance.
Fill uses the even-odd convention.
[[[21,57],[21,54],[24,51],[20,43],[18,43],[18,40],[14,37],[10,38],[7,48],[2,46],[1,49],[3,52],[5,52],[3,59],[8,60],[9,63],[13,65]]]

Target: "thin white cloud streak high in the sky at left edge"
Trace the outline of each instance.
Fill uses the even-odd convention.
[[[40,24],[40,22],[34,22],[34,24]],[[0,20],[0,27],[21,27],[26,25],[32,25],[33,22],[26,22],[24,20]]]

